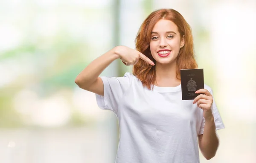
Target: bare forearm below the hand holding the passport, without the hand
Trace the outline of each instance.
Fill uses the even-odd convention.
[[[218,149],[218,136],[214,117],[206,119],[204,125],[204,134],[202,136],[200,149],[204,157],[209,160],[215,156]]]

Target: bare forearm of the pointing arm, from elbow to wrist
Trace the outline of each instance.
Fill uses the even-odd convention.
[[[99,56],[79,73],[75,80],[76,84],[79,85],[79,87],[89,87],[90,84],[93,84],[93,82],[97,80],[102,71],[118,58],[119,56],[116,54],[116,48]]]

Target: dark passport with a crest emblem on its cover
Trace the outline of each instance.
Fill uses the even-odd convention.
[[[195,93],[204,88],[204,69],[181,69],[180,80],[182,100],[194,100],[196,96],[204,94]]]

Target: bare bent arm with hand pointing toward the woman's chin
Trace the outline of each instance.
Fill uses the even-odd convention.
[[[75,83],[82,89],[104,96],[104,87],[99,75],[114,60],[122,59],[125,65],[135,65],[139,59],[143,59],[151,65],[154,63],[145,55],[126,46],[116,46],[107,53],[93,60],[79,73]]]

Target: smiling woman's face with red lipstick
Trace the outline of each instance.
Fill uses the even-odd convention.
[[[176,61],[184,37],[180,38],[177,25],[170,20],[159,20],[151,32],[150,51],[156,62],[169,64]]]

